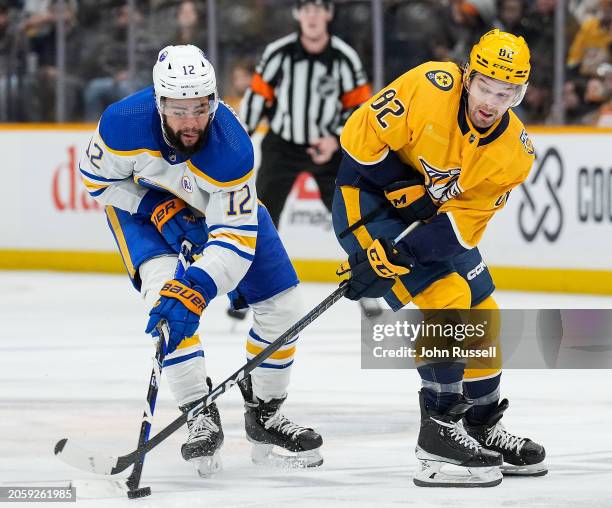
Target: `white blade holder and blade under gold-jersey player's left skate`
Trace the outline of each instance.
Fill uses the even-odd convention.
[[[502,482],[499,466],[465,467],[441,460],[417,459],[421,466],[414,478],[418,487],[495,487]]]

